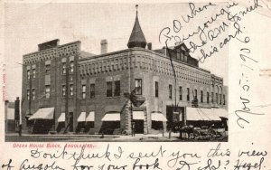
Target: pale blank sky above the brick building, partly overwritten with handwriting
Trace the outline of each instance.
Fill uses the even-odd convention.
[[[191,14],[187,3],[182,4],[138,4],[138,18],[147,42],[153,43],[153,49],[164,46],[159,42],[159,34],[164,27],[173,28],[173,20],[182,21],[182,16]],[[206,5],[206,4],[203,4]],[[178,35],[196,31],[202,21],[207,20],[225,4],[211,6],[211,10],[202,11],[194,16],[189,24],[182,22]],[[202,4],[195,4],[196,7]],[[223,18],[218,20],[221,23]],[[14,100],[22,94],[23,54],[36,52],[38,44],[60,39],[61,44],[80,41],[81,50],[100,53],[100,41],[107,39],[107,52],[116,52],[127,48],[130,33],[135,23],[135,4],[5,4],[5,75],[6,99]],[[213,24],[216,26],[216,24]],[[206,48],[222,40],[228,31]],[[176,34],[176,33],[175,33]],[[199,39],[194,37],[194,41]],[[170,43],[173,45],[173,42]],[[228,46],[215,53],[200,67],[223,78],[228,85]],[[198,58],[200,52],[192,53]]]

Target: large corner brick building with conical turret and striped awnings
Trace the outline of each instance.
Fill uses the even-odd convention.
[[[147,45],[147,48],[145,48]],[[153,50],[137,12],[128,49],[101,54],[59,40],[23,55],[23,128],[33,133],[161,133],[227,117],[228,88],[184,43]]]

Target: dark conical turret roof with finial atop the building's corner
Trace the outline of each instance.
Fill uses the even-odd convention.
[[[137,10],[136,10],[134,28],[133,28],[132,33],[130,35],[129,42],[127,43],[127,46],[128,46],[128,48],[134,48],[134,47],[145,48],[145,45],[146,45],[145,36],[141,30],[141,27],[140,27],[140,24],[138,21],[138,17],[137,17]]]

